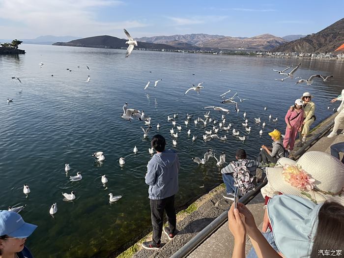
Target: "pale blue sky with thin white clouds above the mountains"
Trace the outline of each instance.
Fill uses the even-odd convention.
[[[0,0],[0,37],[189,33],[310,34],[344,17],[344,0]]]

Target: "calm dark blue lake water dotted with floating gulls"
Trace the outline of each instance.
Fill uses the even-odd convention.
[[[151,158],[148,147],[156,133],[165,136],[168,148],[173,147],[168,115],[179,113],[176,121],[182,126],[175,147],[181,164],[176,205],[182,207],[222,182],[215,159],[198,166],[192,157],[201,157],[208,148],[216,155],[226,152],[228,162],[237,148],[256,157],[261,144],[271,144],[267,132],[276,127],[284,133],[287,108],[303,92],[315,95],[316,125],[339,106],[329,101],[340,94],[344,82],[344,64],[335,60],[135,50],[125,58],[124,50],[113,49],[41,45],[23,45],[22,49],[26,55],[0,56],[0,209],[27,204],[21,215],[38,225],[27,241],[36,258],[107,257],[149,230],[148,186],[144,183]],[[42,68],[40,62],[44,63]],[[329,82],[315,79],[312,86],[296,86],[295,79],[274,80],[282,77],[271,68],[284,69],[299,62],[302,65],[295,76],[308,79],[323,74],[334,78]],[[86,83],[88,75],[91,79]],[[22,83],[12,80],[12,76]],[[158,79],[162,81],[154,88]],[[148,80],[150,86],[143,90]],[[192,90],[184,95],[192,84],[200,82],[204,82],[201,94]],[[238,91],[241,98],[250,99],[239,103],[238,114],[233,106],[220,104],[219,95],[230,88],[228,96]],[[7,98],[13,98],[13,103],[8,105]],[[143,139],[140,128],[145,127],[143,122],[120,117],[125,102],[129,108],[143,109],[152,117],[153,128],[147,139]],[[230,122],[231,130],[238,129],[246,141],[238,140],[231,130],[220,130],[219,136],[227,135],[226,142],[215,139],[204,143],[202,134],[212,124],[195,125],[194,119],[188,126],[184,124],[187,113],[204,118],[203,108],[214,105],[229,108],[226,125]],[[250,133],[241,125],[244,112],[252,127]],[[278,122],[269,121],[270,114],[278,117]],[[210,115],[220,119],[222,113],[211,111]],[[256,124],[254,117],[266,121],[266,126]],[[161,125],[159,131],[157,123]],[[187,135],[188,129],[191,136]],[[262,136],[260,129],[264,131]],[[198,136],[195,142],[193,135]],[[135,145],[139,149],[136,155]],[[91,156],[96,151],[104,152],[106,160],[102,164],[95,163]],[[118,164],[119,157],[126,159],[123,168]],[[72,168],[68,176],[80,171],[83,179],[70,182],[65,163]],[[102,174],[109,179],[107,189],[101,183]],[[24,183],[30,186],[29,198],[23,194]],[[77,199],[63,201],[61,192],[72,190]],[[123,197],[110,204],[109,193]],[[54,202],[58,208],[55,218],[49,214]]]

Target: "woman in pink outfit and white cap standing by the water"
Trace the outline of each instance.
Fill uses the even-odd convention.
[[[289,109],[285,117],[287,128],[286,136],[284,137],[283,145],[286,149],[292,150],[294,148],[294,143],[298,132],[301,131],[301,126],[303,122],[303,105],[302,100],[295,100],[295,105],[293,109]]]

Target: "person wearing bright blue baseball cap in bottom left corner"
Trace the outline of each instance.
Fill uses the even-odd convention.
[[[33,258],[24,244],[36,228],[18,213],[0,210],[0,258]]]

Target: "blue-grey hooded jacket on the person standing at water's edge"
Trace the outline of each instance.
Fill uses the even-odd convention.
[[[145,183],[149,185],[149,199],[161,200],[178,192],[179,159],[174,150],[153,155],[147,165]]]

